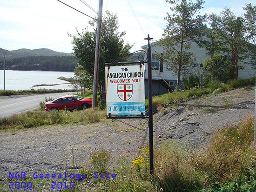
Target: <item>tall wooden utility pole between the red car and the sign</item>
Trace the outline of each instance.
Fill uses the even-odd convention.
[[[103,0],[99,0],[99,11],[96,32],[96,46],[95,46],[95,60],[94,60],[94,84],[93,84],[93,104],[92,107],[97,106],[97,85],[99,77],[100,64],[100,45],[101,45],[101,22],[102,22],[102,6]]]

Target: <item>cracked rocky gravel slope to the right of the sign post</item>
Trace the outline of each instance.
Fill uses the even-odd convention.
[[[155,114],[158,140],[175,139],[195,149],[203,147],[210,135],[224,126],[237,125],[255,111],[255,87],[218,95],[202,96]]]

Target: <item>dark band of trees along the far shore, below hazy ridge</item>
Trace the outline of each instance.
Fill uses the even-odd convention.
[[[74,71],[78,59],[71,56],[31,56],[6,60],[6,69],[40,71]],[[3,69],[3,60],[0,68]]]

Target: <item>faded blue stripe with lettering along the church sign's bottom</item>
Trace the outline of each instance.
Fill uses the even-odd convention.
[[[141,115],[145,114],[145,102],[112,102],[107,103],[107,114]]]

